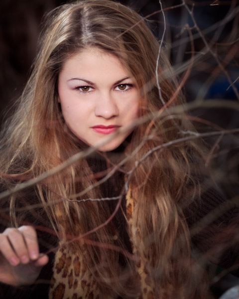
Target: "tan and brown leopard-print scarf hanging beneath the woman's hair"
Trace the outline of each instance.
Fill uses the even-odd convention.
[[[126,195],[126,218],[128,224],[129,238],[132,229],[136,229],[136,234],[140,238],[140,233],[137,228],[132,227],[132,219],[134,200],[131,190]],[[132,243],[131,243],[132,244]],[[80,259],[75,252],[69,252],[68,247],[62,246],[55,255],[54,273],[51,280],[49,299],[113,299],[116,298],[112,293],[105,293],[102,297],[98,284],[94,280],[91,273],[89,273],[84,265],[83,259]],[[132,251],[135,254],[137,247],[132,244]],[[135,299],[158,299],[155,295],[155,286],[153,279],[147,271],[146,265],[140,260],[136,263],[137,278],[141,286],[141,295]],[[171,290],[170,290],[171,289]],[[171,286],[167,288],[167,295],[161,292],[160,298],[168,299],[175,298],[168,297],[169,293],[174,293]],[[157,291],[158,294],[158,291]],[[177,297],[182,299],[183,297]]]

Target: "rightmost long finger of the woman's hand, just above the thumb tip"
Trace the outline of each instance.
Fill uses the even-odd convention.
[[[30,259],[38,259],[39,247],[35,229],[32,226],[21,226],[19,227],[19,231],[24,237]]]

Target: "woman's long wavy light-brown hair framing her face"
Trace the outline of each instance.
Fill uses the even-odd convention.
[[[34,68],[19,108],[4,131],[0,156],[3,180],[7,187],[17,185],[85,150],[64,123],[57,85],[64,62],[88,47],[117,57],[141,92],[141,122],[135,125],[121,155],[125,162],[120,165],[124,173],[121,195],[129,187],[135,203],[132,227],[137,229],[131,230],[130,238],[137,250],[132,256],[143,260],[154,282],[155,296],[170,285],[177,292],[184,290],[185,298],[193,297],[196,279],[183,209],[199,191],[196,170],[202,150],[195,141],[184,138],[185,130],[194,129],[184,113],[173,109],[184,100],[168,58],[146,21],[130,8],[110,0],[84,0],[48,13]],[[112,215],[109,201],[78,202],[104,195],[96,182],[87,158],[82,158],[34,188],[59,239],[84,255],[102,294],[108,289],[123,298],[135,298],[140,293],[133,279],[135,261],[127,255],[127,276],[120,275],[120,250],[110,245],[124,251],[125,246],[114,237],[114,221],[102,226]],[[20,219],[15,211],[19,196],[15,192],[8,199],[15,225]],[[91,230],[87,237],[79,237]]]

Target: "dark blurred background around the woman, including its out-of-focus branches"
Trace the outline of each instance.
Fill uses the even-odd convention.
[[[208,137],[205,142],[212,148],[209,158],[215,179],[229,198],[238,199],[239,2],[162,0],[164,13],[159,0],[119,2],[147,18],[158,40],[164,36],[164,48],[179,80],[190,71],[183,90],[189,103],[202,103],[190,111],[192,117],[204,120],[195,122],[199,132],[232,130],[232,134]],[[30,74],[43,15],[64,3],[0,1],[0,125],[14,110]],[[215,298],[232,282],[232,277],[225,279],[228,285],[223,290],[222,283],[215,285]]]

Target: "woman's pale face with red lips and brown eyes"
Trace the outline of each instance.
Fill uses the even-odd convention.
[[[88,48],[69,58],[59,74],[59,102],[68,128],[89,146],[109,139],[138,117],[139,90],[119,59]],[[99,150],[119,147],[128,129]]]

